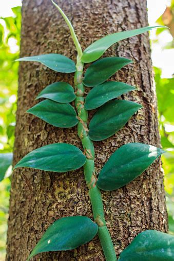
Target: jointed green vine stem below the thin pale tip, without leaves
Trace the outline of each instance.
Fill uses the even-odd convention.
[[[106,226],[106,221],[104,217],[102,196],[100,189],[96,187],[96,176],[94,168],[94,146],[92,141],[88,137],[87,119],[88,112],[84,109],[84,85],[83,85],[83,63],[81,62],[80,56],[78,55],[76,62],[77,71],[74,76],[75,84],[75,106],[78,110],[78,135],[82,141],[82,145],[87,157],[86,163],[84,165],[84,175],[86,184],[89,189],[89,196],[92,205],[93,217],[99,226],[98,235],[100,242],[104,251],[106,261],[117,260],[115,250],[113,247],[112,239],[110,237],[108,228]]]

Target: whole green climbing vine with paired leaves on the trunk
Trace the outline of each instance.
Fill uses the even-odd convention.
[[[78,53],[76,64],[61,54],[42,54],[23,57],[17,61],[40,62],[62,73],[74,73],[74,88],[65,82],[47,86],[36,99],[45,98],[27,112],[59,128],[78,126],[78,135],[84,151],[66,143],[50,144],[27,154],[14,168],[29,167],[53,172],[67,172],[83,166],[89,190],[94,222],[86,216],[70,216],[56,220],[32,250],[34,255],[47,251],[77,248],[89,242],[96,234],[107,261],[117,260],[114,246],[106,226],[101,190],[119,189],[146,170],[164,151],[142,143],[125,144],[116,150],[95,175],[93,141],[104,140],[119,131],[142,106],[138,103],[116,99],[135,87],[108,79],[124,66],[132,63],[123,57],[100,58],[113,44],[122,39],[147,32],[156,27],[113,33],[92,43],[83,52],[74,29],[53,1],[67,23]],[[96,61],[97,60],[97,61]],[[91,63],[84,74],[84,65]],[[92,88],[85,97],[85,87]],[[75,108],[70,102],[75,102]],[[99,108],[99,109],[98,109]],[[98,109],[89,126],[88,110]],[[172,260],[173,236],[147,230],[140,233],[121,253],[119,260]],[[162,253],[162,254],[161,254]]]

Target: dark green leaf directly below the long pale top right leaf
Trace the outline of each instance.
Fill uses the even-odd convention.
[[[89,66],[86,70],[83,83],[87,87],[102,84],[115,72],[130,63],[132,63],[131,60],[122,57],[102,58]]]

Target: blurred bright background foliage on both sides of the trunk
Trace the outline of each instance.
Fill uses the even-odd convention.
[[[163,0],[162,0],[163,1]],[[154,19],[153,5],[163,2],[148,1],[148,15]],[[152,3],[153,2],[153,3]],[[166,4],[166,2],[165,2]],[[158,97],[159,129],[162,147],[167,151],[162,156],[165,173],[165,191],[168,210],[169,233],[174,234],[174,0],[156,23],[170,29],[151,31],[152,61]],[[15,5],[15,4],[14,4]],[[157,6],[156,5],[156,6]],[[151,13],[150,13],[151,12]],[[154,21],[155,22],[155,21]],[[14,144],[15,111],[17,98],[18,63],[14,60],[20,52],[21,6],[12,8],[11,16],[0,13],[0,261],[5,260],[7,219],[10,194],[10,174]],[[174,57],[174,56],[173,56]],[[171,61],[172,60],[172,61]]]

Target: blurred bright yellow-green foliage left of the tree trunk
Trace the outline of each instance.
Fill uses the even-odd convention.
[[[5,260],[10,175],[14,144],[15,111],[20,52],[21,6],[12,16],[0,17],[0,260]],[[7,171],[6,171],[7,170]]]

